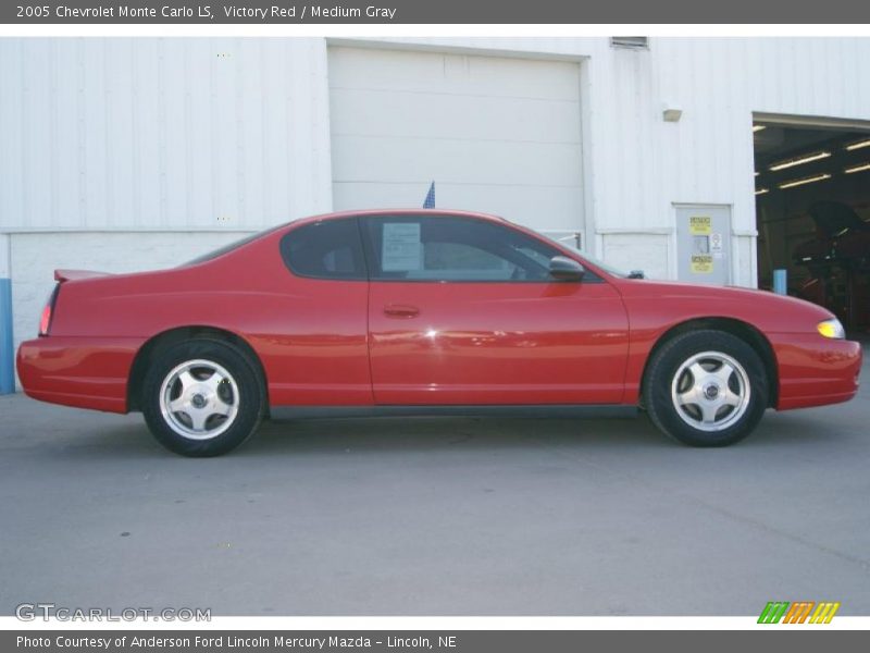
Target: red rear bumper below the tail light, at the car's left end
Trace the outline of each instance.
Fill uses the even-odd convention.
[[[127,380],[142,338],[48,336],[22,343],[18,378],[28,397],[127,411]]]

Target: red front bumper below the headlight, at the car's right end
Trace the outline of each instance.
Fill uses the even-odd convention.
[[[861,345],[816,334],[787,334],[773,344],[780,371],[778,410],[848,402],[858,392]]]

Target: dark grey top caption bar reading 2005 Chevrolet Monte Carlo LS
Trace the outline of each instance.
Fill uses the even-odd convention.
[[[855,0],[4,0],[3,24],[869,24]],[[691,36],[691,35],[687,35]]]

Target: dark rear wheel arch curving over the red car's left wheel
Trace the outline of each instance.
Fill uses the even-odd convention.
[[[263,384],[263,393],[265,396],[266,414],[269,412],[269,382],[265,374],[265,368],[262,360],[257,355],[251,344],[233,331],[221,329],[217,326],[209,326],[203,324],[192,324],[187,326],[175,326],[166,331],[162,331],[157,335],[149,338],[133,359],[133,365],[129,369],[129,377],[127,378],[127,410],[140,410],[140,397],[142,392],[142,383],[145,382],[145,374],[148,366],[157,357],[158,354],[165,350],[167,347],[183,343],[192,338],[214,340],[219,342],[228,343],[246,356],[249,357],[259,374],[260,381]]]

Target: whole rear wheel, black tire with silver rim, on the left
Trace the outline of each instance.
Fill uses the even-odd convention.
[[[237,347],[195,338],[157,356],[146,372],[140,405],[151,433],[167,449],[220,456],[257,431],[265,390],[253,361]]]

